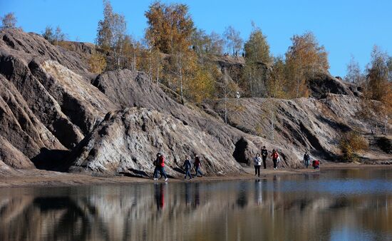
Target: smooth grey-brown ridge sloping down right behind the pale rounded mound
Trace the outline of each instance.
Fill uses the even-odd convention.
[[[235,159],[242,163],[252,161],[257,152],[260,151],[262,145],[276,148],[269,140],[260,138],[259,136],[248,135],[237,128],[233,128],[223,122],[215,111],[209,106],[202,106],[202,109],[195,106],[182,106],[158,87],[155,83],[148,80],[145,73],[135,73],[129,70],[108,71],[103,73],[93,81],[93,85],[97,86],[110,100],[120,104],[124,108],[128,106],[137,106],[142,108],[150,108],[161,113],[170,114],[171,116],[182,121],[185,125],[204,131],[206,135],[211,135],[217,140],[217,144],[226,148],[227,153],[233,155],[235,151]],[[246,139],[249,145],[241,145],[242,139]],[[214,148],[214,147],[210,147]],[[284,146],[279,147],[284,158],[287,158],[284,166],[297,167],[300,165],[295,155],[290,155],[289,150]],[[205,150],[208,151],[208,150]],[[271,163],[272,165],[272,163]]]

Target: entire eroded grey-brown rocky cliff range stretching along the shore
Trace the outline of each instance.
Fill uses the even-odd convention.
[[[356,118],[358,90],[329,75],[310,83],[316,98],[231,100],[226,124],[222,101],[182,106],[137,71],[96,76],[85,61],[84,46],[92,46],[71,46],[20,29],[0,31],[1,170],[150,175],[161,151],[173,176],[185,155],[195,154],[210,175],[241,173],[240,164],[251,164],[262,145],[277,148],[282,165],[295,168],[304,150],[334,159],[341,131],[368,130]]]

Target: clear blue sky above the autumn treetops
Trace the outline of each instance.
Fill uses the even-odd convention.
[[[114,11],[125,15],[128,34],[143,37],[144,12],[150,0],[112,0]],[[195,26],[222,34],[232,25],[247,39],[254,21],[262,28],[274,55],[283,55],[290,37],[313,31],[329,52],[330,72],[344,76],[351,54],[360,66],[368,63],[374,44],[392,54],[391,0],[182,0],[190,6]],[[0,15],[13,11],[24,31],[41,33],[47,25],[60,26],[70,40],[93,42],[100,0],[0,0]]]

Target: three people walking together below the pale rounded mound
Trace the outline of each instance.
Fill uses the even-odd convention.
[[[165,157],[162,153],[157,154],[157,158],[154,160],[153,164],[155,166],[153,174],[154,180],[158,180],[158,175],[160,174],[160,178],[165,178],[165,181],[167,181],[167,175],[165,173]],[[195,155],[193,167],[195,168],[195,177],[202,177],[203,173],[200,170],[200,168],[202,167],[202,162],[198,155]],[[182,165],[182,168],[184,168],[185,170],[184,179],[187,179],[187,176],[189,176],[189,179],[192,179],[192,175],[190,174],[190,171],[192,170],[192,162],[190,161],[190,156],[185,157],[185,162]]]

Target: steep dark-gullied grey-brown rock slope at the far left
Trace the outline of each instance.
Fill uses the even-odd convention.
[[[36,161],[48,158],[42,150],[73,148],[118,108],[91,85],[78,53],[38,34],[0,31],[0,73],[0,135]]]

